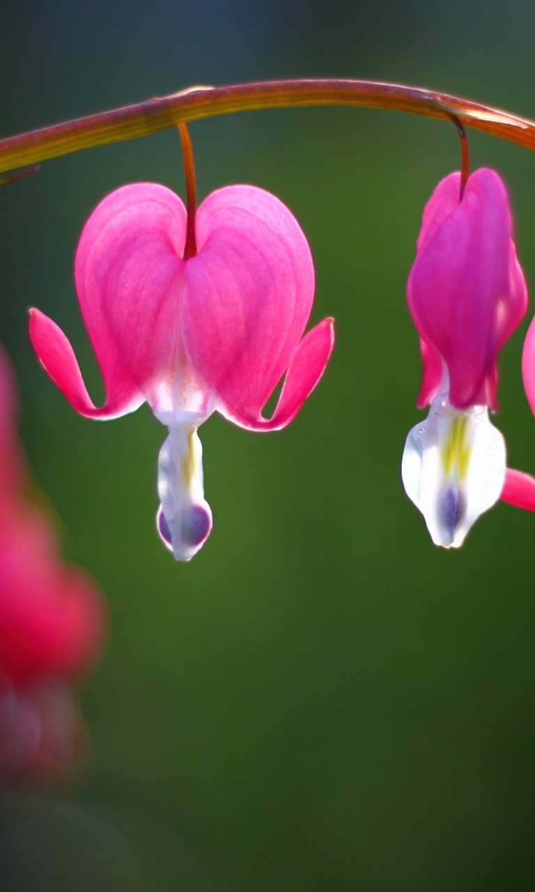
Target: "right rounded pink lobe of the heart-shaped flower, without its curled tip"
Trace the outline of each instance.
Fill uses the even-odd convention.
[[[224,414],[261,425],[309,318],[309,245],[284,204],[254,186],[227,186],[202,202],[197,244],[185,266],[186,354]]]

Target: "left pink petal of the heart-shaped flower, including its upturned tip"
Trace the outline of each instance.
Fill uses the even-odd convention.
[[[103,199],[82,232],[75,264],[78,301],[103,373],[106,403],[95,409],[70,344],[34,316],[37,355],[78,411],[112,417],[151,399],[177,354],[185,208],[164,186],[136,183]]]

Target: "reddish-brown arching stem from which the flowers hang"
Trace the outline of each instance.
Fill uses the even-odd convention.
[[[535,121],[460,96],[372,80],[280,80],[233,87],[190,87],[175,95],[0,139],[0,173],[91,146],[156,133],[185,121],[297,105],[365,106],[447,120],[455,115],[466,127],[535,150]]]

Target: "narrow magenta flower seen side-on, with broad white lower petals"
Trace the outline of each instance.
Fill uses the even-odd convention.
[[[427,419],[407,436],[401,474],[432,541],[457,548],[500,497],[506,447],[490,424],[498,351],[527,304],[505,186],[493,170],[443,179],[424,209],[407,301],[420,335]]]

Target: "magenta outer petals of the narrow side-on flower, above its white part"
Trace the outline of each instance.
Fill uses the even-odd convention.
[[[428,202],[407,284],[409,310],[425,343],[418,403],[438,386],[437,356],[449,373],[457,409],[496,409],[496,360],[525,312],[526,286],[516,260],[506,189],[493,170],[442,180]]]

